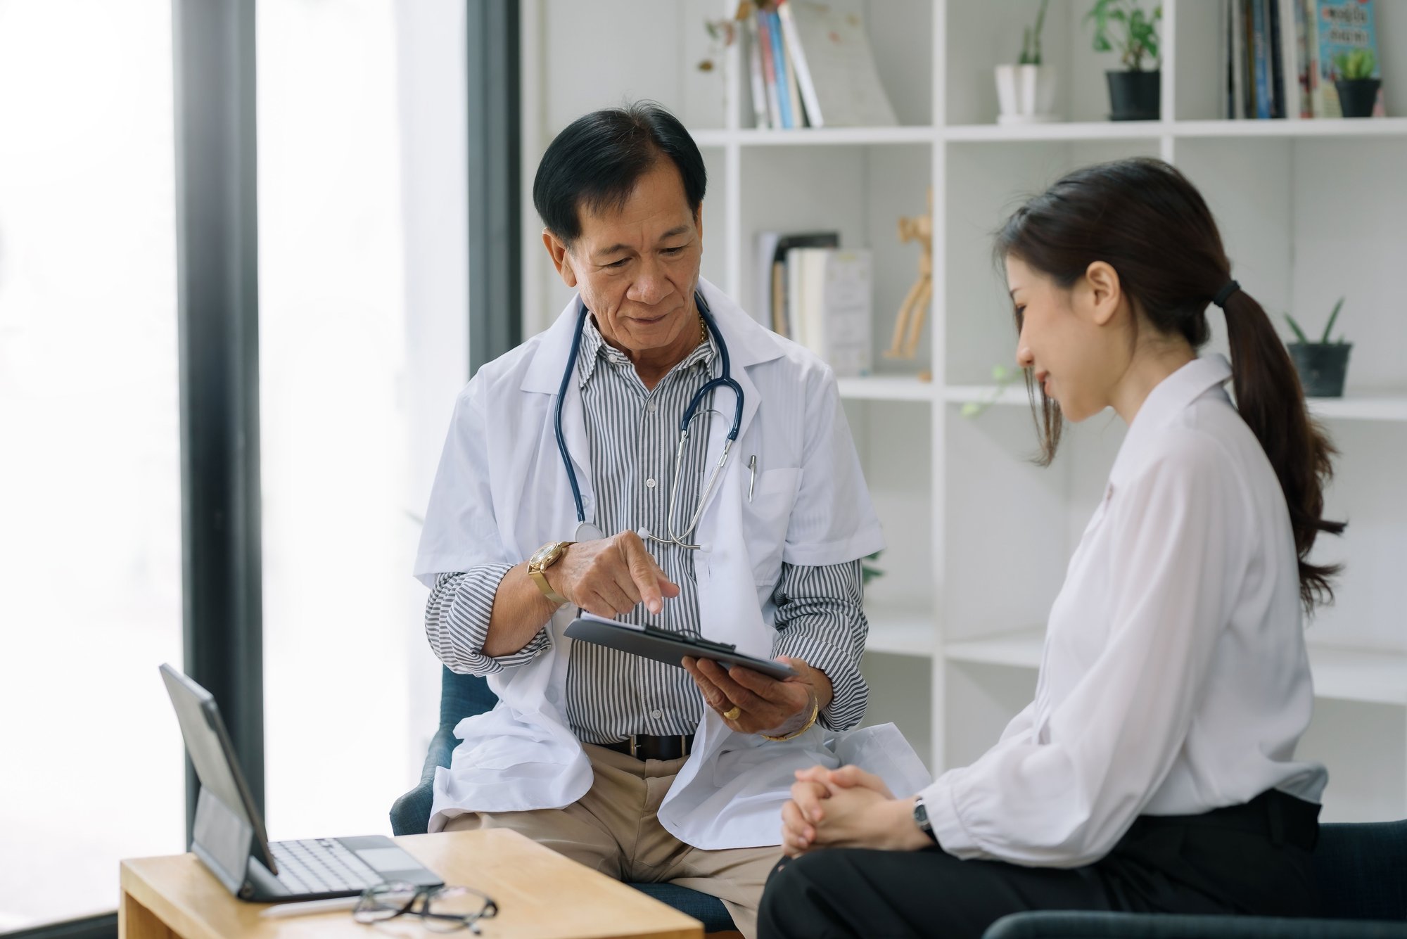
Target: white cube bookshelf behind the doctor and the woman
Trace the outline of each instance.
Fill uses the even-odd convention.
[[[1164,0],[1162,119],[1109,122],[1102,72],[1117,65],[1089,51],[1089,3],[1052,0],[1043,45],[1064,121],[999,127],[992,66],[1014,60],[1037,0],[855,0],[899,127],[756,129],[736,46],[720,72],[694,69],[708,53],[704,21],[733,6],[523,4],[523,179],[578,114],[661,101],[708,162],[704,276],[747,305],[754,232],[840,231],[843,246],[874,252],[877,350],[916,273],[917,247],[898,242],[895,222],[922,212],[933,187],[934,299],[920,353],[877,358],[875,374],[840,382],[889,541],[885,576],[867,592],[867,720],[899,724],[937,772],[976,758],[1030,700],[1045,614],[1123,427],[1092,417],[1069,429],[1051,468],[1030,464],[1026,388],[998,394],[991,384],[992,365],[1012,361],[1014,329],[989,233],[1068,169],[1161,156],[1202,188],[1237,280],[1272,313],[1321,325],[1348,295],[1345,396],[1310,402],[1341,450],[1328,512],[1349,529],[1317,555],[1346,572],[1337,604],[1307,627],[1318,700],[1301,752],[1330,768],[1325,820],[1407,815],[1407,604],[1396,589],[1407,559],[1407,320],[1396,290],[1407,257],[1407,118],[1217,119],[1217,4]],[[1390,115],[1407,114],[1399,7],[1375,4]],[[590,41],[568,67],[566,51],[581,37]],[[526,201],[525,218],[535,218]],[[523,228],[530,335],[570,291],[539,257],[535,225]],[[1213,349],[1224,351],[1220,313],[1210,322]],[[991,406],[964,417],[969,402]]]

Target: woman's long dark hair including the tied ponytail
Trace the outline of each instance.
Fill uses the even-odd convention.
[[[1175,167],[1150,157],[1067,174],[1012,214],[996,235],[996,256],[1017,257],[1067,290],[1093,261],[1106,261],[1154,329],[1182,336],[1193,349],[1210,335],[1207,304],[1231,280],[1231,261],[1202,194]],[[1342,522],[1323,517],[1324,484],[1337,451],[1310,419],[1289,353],[1261,304],[1244,290],[1224,302],[1237,409],[1285,492],[1299,554],[1300,600],[1311,610],[1332,599],[1330,578],[1339,571],[1339,565],[1306,561],[1320,531],[1344,530]],[[1021,325],[1019,311],[1016,325]],[[1059,443],[1059,409],[1044,391],[1037,405],[1029,370],[1026,387],[1041,432],[1041,462],[1048,464]]]

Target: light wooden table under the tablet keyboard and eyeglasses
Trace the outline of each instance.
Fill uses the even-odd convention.
[[[701,939],[698,919],[605,874],[505,829],[402,835],[395,842],[445,879],[498,902],[481,924],[483,939]],[[122,862],[118,936],[124,939],[322,939],[433,936],[418,917],[362,925],[349,909],[286,919],[259,915],[267,904],[243,902],[196,855]],[[471,939],[469,931],[449,933]]]

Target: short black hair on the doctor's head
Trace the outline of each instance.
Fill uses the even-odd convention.
[[[571,245],[581,235],[582,207],[623,207],[661,157],[678,167],[696,216],[708,184],[704,155],[680,119],[654,101],[592,111],[567,125],[542,155],[532,202],[547,229]]]

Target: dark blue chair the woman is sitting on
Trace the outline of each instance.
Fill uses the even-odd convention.
[[[1021,912],[983,939],[1407,939],[1407,820],[1320,825],[1314,880],[1325,919]]]

